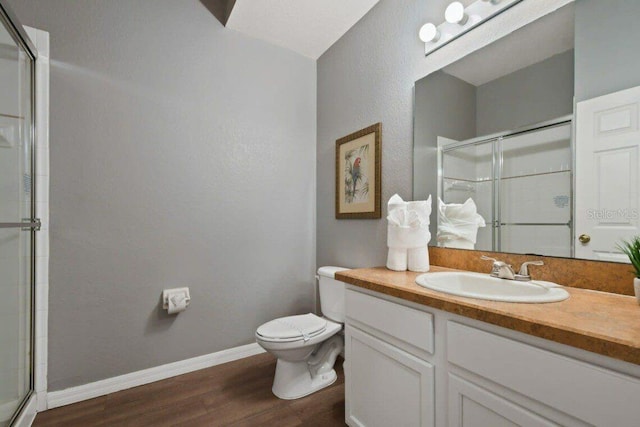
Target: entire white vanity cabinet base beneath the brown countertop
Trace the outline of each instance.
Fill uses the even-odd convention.
[[[640,366],[372,291],[346,295],[350,426],[640,425]]]

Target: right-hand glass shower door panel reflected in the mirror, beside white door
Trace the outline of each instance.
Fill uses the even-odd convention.
[[[501,138],[498,250],[570,257],[571,122]]]

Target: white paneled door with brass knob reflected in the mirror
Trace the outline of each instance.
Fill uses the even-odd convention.
[[[616,244],[640,234],[640,86],[577,104],[577,258],[627,262]]]

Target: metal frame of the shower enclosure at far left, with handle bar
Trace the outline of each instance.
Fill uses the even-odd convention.
[[[35,141],[36,141],[36,61],[38,59],[38,51],[35,48],[30,37],[27,35],[26,30],[20,24],[15,13],[6,4],[0,0],[0,21],[5,25],[5,28],[16,43],[21,47],[30,60],[30,131],[28,132],[29,146],[30,146],[30,164],[31,164],[31,180],[30,180],[30,192],[31,192],[31,215],[29,222],[23,223],[25,228],[30,229],[30,313],[29,313],[29,345],[30,345],[30,357],[29,357],[29,390],[25,397],[18,405],[13,417],[9,420],[9,425],[19,422],[19,418],[22,416],[27,405],[31,399],[36,395],[35,376],[36,376],[36,231],[40,230],[40,220],[36,218],[36,153],[35,153]],[[15,225],[15,224],[13,224]],[[12,226],[12,224],[5,223],[6,227]]]

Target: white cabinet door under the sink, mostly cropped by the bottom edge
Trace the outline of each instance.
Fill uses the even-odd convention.
[[[558,426],[513,402],[449,374],[450,427]]]

